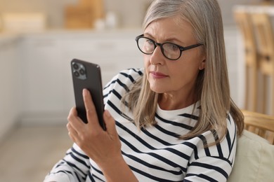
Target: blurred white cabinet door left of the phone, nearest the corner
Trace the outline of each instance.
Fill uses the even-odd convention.
[[[62,109],[62,62],[58,40],[43,36],[25,36],[20,48],[23,62],[23,113]]]

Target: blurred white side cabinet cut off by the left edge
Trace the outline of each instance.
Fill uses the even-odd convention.
[[[18,38],[0,37],[0,139],[18,120],[20,114],[20,62]]]

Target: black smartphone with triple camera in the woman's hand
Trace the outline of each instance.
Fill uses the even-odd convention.
[[[79,59],[72,59],[72,81],[74,88],[75,104],[79,118],[84,123],[88,123],[86,118],[86,108],[84,106],[83,89],[86,88],[91,92],[93,103],[96,107],[96,112],[100,126],[105,130],[103,120],[104,104],[103,104],[103,86],[100,73],[100,66],[91,62],[86,62]]]

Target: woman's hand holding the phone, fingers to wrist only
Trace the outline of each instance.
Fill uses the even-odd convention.
[[[108,111],[105,111],[103,118],[107,130],[104,131],[98,122],[96,109],[88,90],[83,90],[83,97],[88,123],[83,123],[77,116],[77,110],[72,108],[67,118],[70,138],[101,168],[123,160],[115,120]]]

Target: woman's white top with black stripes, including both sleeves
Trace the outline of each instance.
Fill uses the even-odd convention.
[[[199,103],[175,111],[164,111],[158,106],[157,125],[139,131],[130,119],[132,113],[122,114],[121,98],[141,76],[143,69],[122,71],[104,89],[105,109],[116,120],[122,155],[137,179],[144,182],[226,181],[236,151],[233,118],[228,116],[228,134],[221,144],[206,148],[204,144],[216,139],[211,131],[186,141],[178,139],[178,134],[186,134],[195,126]],[[96,163],[74,144],[45,181],[105,181],[105,178]]]

